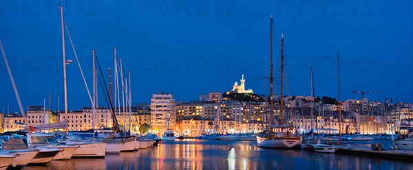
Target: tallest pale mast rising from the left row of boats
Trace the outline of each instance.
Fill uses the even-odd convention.
[[[61,29],[62,29],[62,53],[63,53],[63,86],[65,88],[65,117],[67,121],[67,80],[66,80],[66,51],[65,51],[65,20],[63,19],[63,5],[60,6],[61,11]],[[69,130],[72,129],[71,126],[68,128]],[[66,136],[67,136],[66,131]]]

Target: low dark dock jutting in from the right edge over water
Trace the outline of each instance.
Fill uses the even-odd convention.
[[[413,160],[413,151],[405,150],[373,150],[365,147],[339,147],[339,153],[371,158],[385,158],[393,160]]]

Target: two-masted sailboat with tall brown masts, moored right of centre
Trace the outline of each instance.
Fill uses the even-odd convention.
[[[270,44],[271,44],[271,71],[270,71],[270,107],[271,107],[271,121],[270,121],[270,131],[263,131],[257,134],[257,145],[258,147],[269,147],[269,148],[299,148],[302,139],[299,136],[294,136],[290,130],[284,132],[284,129],[292,129],[294,125],[284,124],[284,112],[283,112],[283,94],[282,94],[282,78],[284,70],[284,34],[282,34],[281,40],[281,102],[280,102],[280,115],[281,124],[274,124],[274,108],[273,108],[273,16],[271,16],[271,28],[270,28]],[[281,129],[279,132],[273,132],[274,129]]]

